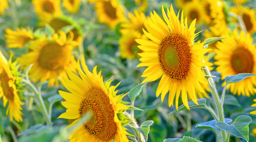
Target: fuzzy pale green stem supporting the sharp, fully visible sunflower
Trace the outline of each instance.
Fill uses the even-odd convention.
[[[202,70],[204,71],[205,75],[211,76],[210,70],[208,69],[207,66],[203,67]],[[213,93],[213,98],[214,98],[214,101],[215,101],[215,105],[217,106],[218,120],[216,120],[216,121],[217,122],[224,122],[223,105],[221,105],[220,98],[218,96],[218,92],[217,92],[216,86],[214,84],[213,78],[208,78],[207,82],[208,82],[209,87],[211,89],[211,93]],[[222,137],[223,141],[226,140],[226,132],[223,131],[223,130],[221,130],[221,137]]]

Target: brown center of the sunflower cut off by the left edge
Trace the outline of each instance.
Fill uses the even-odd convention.
[[[0,85],[2,87],[2,91],[9,101],[13,101],[14,90],[9,86],[10,81],[14,81],[13,78],[9,78],[7,72],[2,69],[2,72],[0,73]]]

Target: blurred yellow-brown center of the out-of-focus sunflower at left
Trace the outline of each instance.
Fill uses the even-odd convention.
[[[62,69],[70,60],[71,49],[58,43],[48,43],[43,46],[38,63],[47,70]]]

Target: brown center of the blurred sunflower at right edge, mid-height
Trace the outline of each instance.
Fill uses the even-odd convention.
[[[252,53],[243,47],[233,51],[231,66],[236,73],[252,73],[254,60]]]

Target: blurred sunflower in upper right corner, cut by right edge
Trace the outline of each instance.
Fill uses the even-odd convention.
[[[243,21],[243,25],[246,28],[246,31],[249,34],[253,34],[256,31],[256,17],[255,17],[255,10],[249,9],[248,7],[243,8],[241,5],[238,7],[232,7],[230,8],[230,11],[237,14],[239,17],[241,17],[241,20]],[[234,20],[235,22],[238,22],[237,20]],[[239,26],[239,30],[241,27]]]

